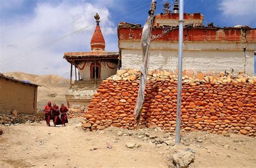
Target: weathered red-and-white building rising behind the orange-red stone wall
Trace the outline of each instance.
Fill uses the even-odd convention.
[[[174,10],[175,11],[175,10]],[[176,8],[177,11],[177,8]],[[175,71],[178,62],[179,13],[160,13],[155,16],[150,45],[149,69]],[[249,26],[216,27],[203,25],[201,13],[184,13],[183,68],[198,72],[221,72],[234,69],[254,74],[256,29]],[[119,23],[118,46],[122,68],[142,66],[143,27]]]

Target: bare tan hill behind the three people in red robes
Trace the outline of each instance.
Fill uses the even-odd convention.
[[[38,87],[37,93],[37,108],[42,109],[48,101],[56,103],[66,103],[65,94],[69,88],[69,80],[57,75],[33,75],[23,72],[5,73],[7,76],[12,76],[15,79],[30,81],[36,83]]]

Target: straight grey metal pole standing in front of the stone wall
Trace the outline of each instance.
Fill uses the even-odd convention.
[[[180,118],[181,118],[181,89],[182,89],[182,60],[183,60],[183,0],[179,1],[179,58],[178,58],[178,94],[177,94],[177,115],[176,115],[176,138],[175,142],[180,143]]]

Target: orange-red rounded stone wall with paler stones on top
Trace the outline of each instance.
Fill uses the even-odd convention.
[[[240,132],[256,136],[255,76],[241,73],[233,78],[234,74],[225,76],[220,73],[218,78],[205,75],[199,80],[187,75],[183,77],[183,130]],[[117,75],[104,80],[84,115],[84,129],[104,129],[110,125],[136,128],[133,109],[139,89],[138,77],[139,72],[120,70]],[[154,71],[147,78],[140,123],[142,127],[161,127],[173,132],[176,127],[177,76],[172,72]]]

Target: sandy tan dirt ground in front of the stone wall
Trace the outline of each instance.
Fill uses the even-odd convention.
[[[190,167],[255,167],[256,141],[253,137],[189,132],[181,145],[175,136],[160,129],[124,130],[107,128],[85,132],[74,118],[66,127],[46,127],[46,123],[0,125],[0,167],[168,167],[171,155],[190,149],[196,153]],[[52,124],[52,123],[51,123]],[[118,134],[123,134],[119,136]],[[171,144],[155,144],[157,136]],[[129,149],[126,143],[136,143]],[[107,143],[111,149],[107,148]]]

